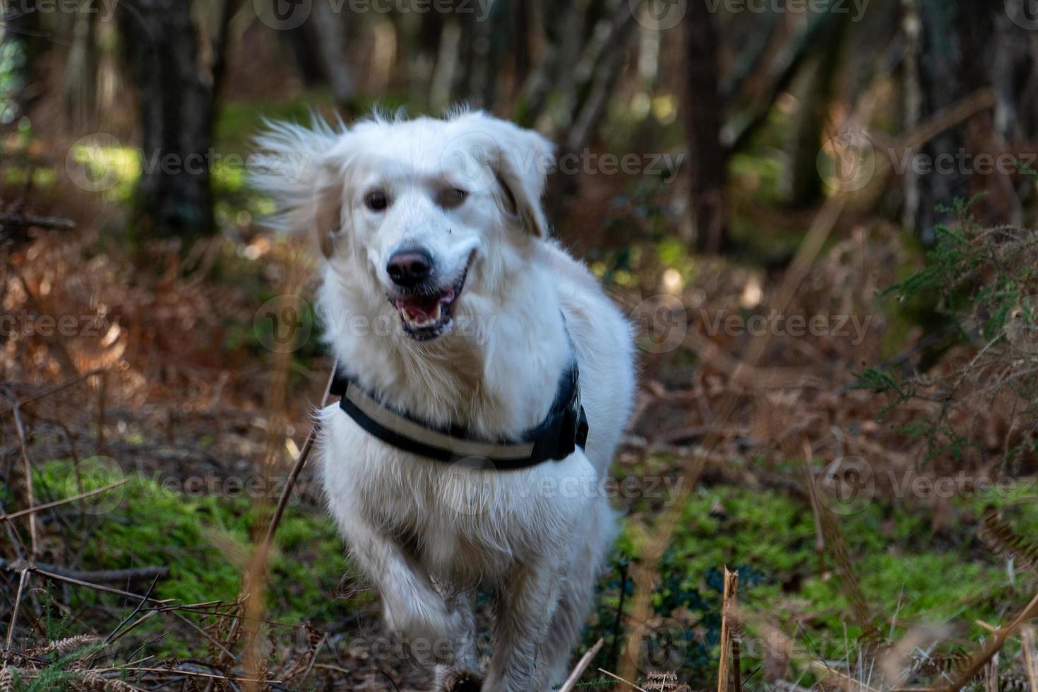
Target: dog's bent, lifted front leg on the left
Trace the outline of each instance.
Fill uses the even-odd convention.
[[[348,526],[344,526],[348,524]],[[386,626],[444,692],[479,690],[475,622],[467,601],[448,603],[427,571],[391,537],[364,522],[342,522],[354,559],[382,597]]]

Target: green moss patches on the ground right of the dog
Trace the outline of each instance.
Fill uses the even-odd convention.
[[[1038,523],[1034,503],[1006,504],[1027,530]],[[934,539],[930,510],[905,502],[877,499],[856,515],[836,519],[883,636],[893,632],[897,639],[916,625],[954,622],[959,635],[979,641],[984,633],[977,620],[1001,622],[1007,603],[1022,606],[1029,598],[1029,585],[1009,583],[1000,558],[973,539],[968,522],[961,527],[963,539],[949,545]],[[622,554],[637,559],[653,535],[651,523],[625,527]],[[812,656],[843,658],[862,628],[831,551],[820,557],[815,541],[805,501],[772,491],[700,488],[661,562],[656,612],[667,615],[666,609],[680,603],[685,614],[675,616],[691,613],[696,627],[709,629],[720,606],[717,574],[727,565],[740,571],[739,600],[746,612],[777,621]],[[753,636],[754,627],[747,629]]]

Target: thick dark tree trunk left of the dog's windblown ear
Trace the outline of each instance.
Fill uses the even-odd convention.
[[[199,39],[210,38],[195,27],[186,0],[124,0],[118,17],[140,89],[139,231],[185,240],[209,234],[213,122],[230,1],[221,3],[212,50],[204,53]],[[210,56],[209,65],[201,63],[202,54]]]

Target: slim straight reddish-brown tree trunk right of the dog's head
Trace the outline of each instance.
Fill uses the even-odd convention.
[[[691,213],[700,251],[718,253],[728,245],[726,187],[728,153],[721,143],[725,112],[720,99],[717,24],[703,0],[691,0],[684,20],[685,128],[691,169]]]

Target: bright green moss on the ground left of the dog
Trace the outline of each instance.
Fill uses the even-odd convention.
[[[44,465],[36,475],[39,496],[53,500],[78,492],[72,470],[69,462]],[[114,506],[98,515],[102,523],[85,534],[85,545],[65,548],[70,554],[82,551],[79,569],[167,565],[170,575],[157,583],[156,598],[184,604],[234,601],[251,554],[249,536],[266,525],[268,508],[244,497],[185,494],[164,488],[158,478],[127,477],[111,495],[91,498],[108,503],[95,507]],[[115,479],[117,472],[87,474],[82,488],[93,490]],[[334,598],[345,571],[345,551],[331,520],[319,509],[288,507],[270,564],[269,617],[293,624],[339,617],[356,606]]]

